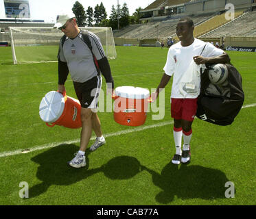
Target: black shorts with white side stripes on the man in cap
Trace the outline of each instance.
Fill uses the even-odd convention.
[[[95,76],[84,83],[73,81],[75,94],[78,96],[81,107],[96,109],[100,89],[102,88],[102,77]]]

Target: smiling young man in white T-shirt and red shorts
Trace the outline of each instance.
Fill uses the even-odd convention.
[[[163,70],[165,73],[159,83],[156,92],[152,94],[155,100],[159,96],[159,90],[165,88],[172,75],[171,114],[174,118],[174,142],[176,153],[172,158],[172,164],[188,164],[191,159],[190,141],[192,136],[191,125],[197,110],[197,97],[194,94],[184,96],[179,90],[179,83],[192,60],[196,64],[229,63],[229,55],[221,49],[214,47],[209,42],[203,42],[194,38],[194,22],[191,18],[181,18],[176,26],[176,34],[180,42],[172,45],[168,51],[167,62]],[[182,146],[183,137],[183,149]]]

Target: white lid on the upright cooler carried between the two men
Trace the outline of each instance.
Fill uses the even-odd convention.
[[[147,99],[150,96],[150,92],[145,88],[121,86],[115,88],[115,95],[128,99]]]

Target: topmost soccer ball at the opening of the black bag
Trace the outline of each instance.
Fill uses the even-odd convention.
[[[213,84],[224,83],[228,75],[229,71],[224,64],[213,64],[209,67],[209,79]]]

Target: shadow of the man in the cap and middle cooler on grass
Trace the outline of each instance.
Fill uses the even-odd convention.
[[[67,162],[73,159],[73,154],[77,151],[76,145],[62,144],[32,157],[32,161],[40,165],[36,177],[42,183],[30,188],[30,198],[43,194],[51,185],[71,185],[98,172],[104,172],[109,179],[130,179],[139,172],[138,160],[127,156],[115,157],[100,168],[89,169],[89,150],[86,151],[86,166],[72,168]]]

